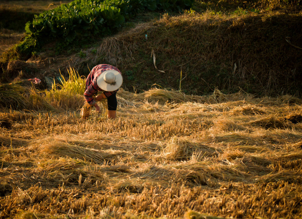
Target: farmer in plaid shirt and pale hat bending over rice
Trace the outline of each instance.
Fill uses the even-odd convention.
[[[86,79],[84,92],[85,104],[83,106],[84,113],[82,114],[82,117],[87,118],[90,115],[92,106],[95,106],[96,111],[100,113],[100,107],[96,101],[107,98],[108,118],[114,119],[117,108],[116,92],[122,83],[122,74],[116,67],[106,64],[95,66]],[[93,94],[98,91],[103,92],[94,99]]]

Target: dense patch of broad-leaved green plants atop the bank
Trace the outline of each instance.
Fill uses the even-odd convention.
[[[142,11],[181,11],[194,0],[75,0],[35,15],[26,23],[27,35],[17,46],[21,54],[31,54],[53,40],[67,46],[81,39],[103,37],[117,32],[126,20]],[[62,43],[61,43],[62,45]]]

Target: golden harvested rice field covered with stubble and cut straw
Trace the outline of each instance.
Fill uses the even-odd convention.
[[[301,99],[117,100],[115,120],[1,110],[0,219],[302,217]]]

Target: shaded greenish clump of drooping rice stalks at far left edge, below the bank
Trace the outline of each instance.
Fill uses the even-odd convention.
[[[25,89],[20,85],[0,85],[0,108],[24,109],[28,106]]]

